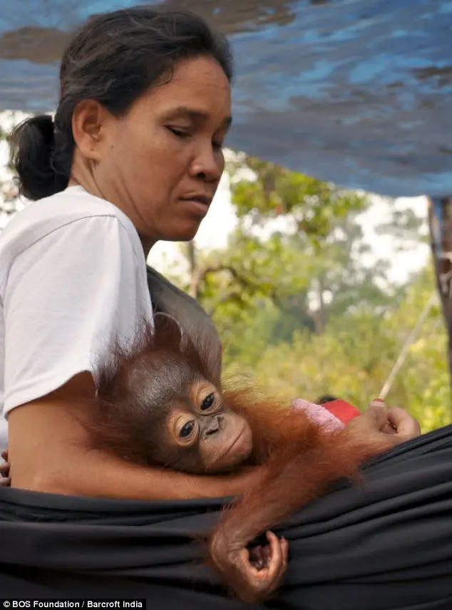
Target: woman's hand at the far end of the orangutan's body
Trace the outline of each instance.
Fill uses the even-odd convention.
[[[351,434],[366,435],[369,443],[384,440],[389,445],[399,445],[421,434],[418,422],[406,410],[388,408],[381,400],[373,400],[367,410],[346,425]]]

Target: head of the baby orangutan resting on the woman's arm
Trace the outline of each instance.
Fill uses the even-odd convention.
[[[132,348],[98,367],[98,405],[85,424],[91,446],[141,465],[196,475],[232,472],[252,453],[247,420],[169,316],[143,324]]]

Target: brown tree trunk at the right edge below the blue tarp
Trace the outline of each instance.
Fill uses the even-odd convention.
[[[436,286],[448,334],[448,365],[452,380],[452,197],[428,200],[428,227]]]

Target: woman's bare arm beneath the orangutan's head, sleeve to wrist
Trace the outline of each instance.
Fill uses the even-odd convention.
[[[93,391],[91,375],[81,373],[51,395],[11,411],[11,487],[127,500],[183,500],[240,494],[257,475],[185,475],[87,450],[78,418],[90,408]]]

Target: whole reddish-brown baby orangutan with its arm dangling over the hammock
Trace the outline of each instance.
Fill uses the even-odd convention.
[[[358,477],[362,462],[394,445],[363,433],[328,433],[304,411],[263,402],[250,390],[223,391],[209,353],[195,347],[169,316],[128,349],[117,346],[98,367],[98,401],[84,423],[92,448],[125,460],[194,474],[257,467],[247,491],[222,511],[208,539],[209,563],[251,604],[282,583],[288,544],[269,531],[327,492]],[[250,544],[267,533],[268,545]]]

